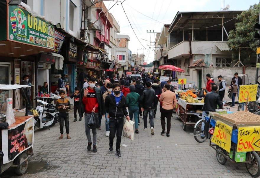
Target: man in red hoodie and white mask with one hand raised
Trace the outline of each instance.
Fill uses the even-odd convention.
[[[91,149],[92,141],[90,135],[90,128],[87,125],[87,121],[89,120],[92,112],[94,112],[94,116],[98,118],[98,112],[102,115],[105,114],[105,103],[102,96],[101,89],[95,87],[96,79],[93,77],[89,78],[89,86],[85,87],[81,90],[80,94],[80,106],[81,112],[80,116],[83,116],[85,112],[85,132],[87,135],[88,146],[87,150]],[[82,97],[83,96],[83,97]],[[97,152],[97,128],[92,129],[93,133],[93,152]]]

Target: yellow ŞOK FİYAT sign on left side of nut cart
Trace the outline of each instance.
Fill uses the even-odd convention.
[[[231,147],[231,135],[232,127],[225,123],[217,121],[211,141],[224,150],[228,151],[229,153]]]

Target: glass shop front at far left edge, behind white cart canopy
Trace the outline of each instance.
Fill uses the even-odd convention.
[[[0,62],[0,84],[11,84],[10,63]],[[10,91],[0,92],[0,110],[6,111],[6,99],[11,97]]]

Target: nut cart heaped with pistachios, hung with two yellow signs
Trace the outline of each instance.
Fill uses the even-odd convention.
[[[260,116],[248,111],[219,115],[209,112],[212,126],[209,145],[216,150],[217,161],[245,163],[252,177],[260,176]],[[211,135],[212,134],[212,135]]]

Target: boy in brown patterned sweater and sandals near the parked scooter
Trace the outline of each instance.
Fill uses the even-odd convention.
[[[65,122],[65,128],[67,133],[67,139],[70,139],[69,136],[69,109],[70,109],[70,102],[69,99],[65,98],[65,91],[61,90],[59,92],[60,99],[57,100],[56,109],[59,110],[59,120],[60,120],[60,131],[61,136],[59,139],[63,138],[63,127]]]

